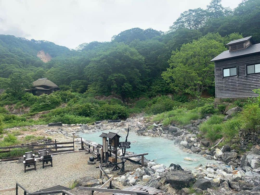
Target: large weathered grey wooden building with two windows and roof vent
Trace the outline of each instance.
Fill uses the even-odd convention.
[[[215,62],[216,99],[258,96],[253,89],[260,88],[260,43],[253,44],[252,36],[226,44]]]

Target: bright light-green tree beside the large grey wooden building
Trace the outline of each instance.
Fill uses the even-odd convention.
[[[170,68],[162,77],[172,90],[200,96],[214,84],[214,64],[210,60],[224,50],[223,43],[205,37],[184,44],[172,52]]]

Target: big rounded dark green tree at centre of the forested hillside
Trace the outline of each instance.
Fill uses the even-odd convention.
[[[125,99],[140,96],[146,89],[144,57],[125,44],[119,44],[92,59],[84,72],[92,83],[88,93],[119,94]]]

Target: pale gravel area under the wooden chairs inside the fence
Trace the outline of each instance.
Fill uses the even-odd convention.
[[[80,177],[99,178],[99,169],[95,168],[99,163],[88,165],[87,159],[91,154],[85,153],[86,151],[54,155],[53,167],[48,166],[43,169],[42,163],[37,161],[36,171],[31,170],[26,173],[24,173],[23,164],[17,164],[14,161],[0,162],[0,189],[15,187],[15,183],[18,182],[30,192],[35,192],[56,185],[69,187],[70,183]],[[125,164],[126,170],[130,171],[138,167],[131,162]],[[1,195],[11,194],[15,194],[15,190],[1,193]],[[23,194],[23,191],[20,189],[18,194]]]

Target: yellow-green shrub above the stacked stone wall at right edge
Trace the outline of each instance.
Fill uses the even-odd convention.
[[[259,129],[260,125],[260,108],[259,105],[251,104],[242,110],[240,120],[245,129]]]

